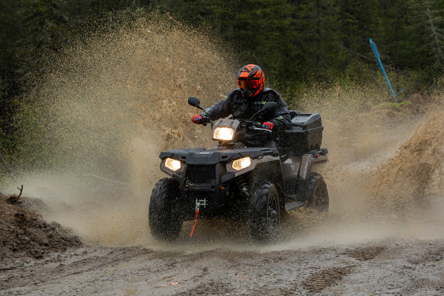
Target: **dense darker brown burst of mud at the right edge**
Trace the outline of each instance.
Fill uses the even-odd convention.
[[[431,114],[395,156],[373,174],[374,181],[369,185],[380,209],[405,213],[408,209],[427,206],[427,196],[440,195],[444,164],[443,116],[442,112]]]

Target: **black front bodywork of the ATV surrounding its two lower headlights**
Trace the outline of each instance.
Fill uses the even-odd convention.
[[[249,156],[251,165],[234,170],[232,161]],[[174,178],[182,194],[183,210],[192,217],[195,201],[206,199],[206,206],[201,213],[215,214],[226,212],[226,207],[243,207],[246,197],[239,193],[236,180],[244,175],[251,178],[273,178],[284,197],[284,182],[279,152],[275,148],[204,148],[174,149],[162,152],[160,169]],[[174,158],[182,162],[177,171],[164,166],[165,158]],[[236,197],[234,197],[236,195]],[[282,200],[285,202],[285,198]]]

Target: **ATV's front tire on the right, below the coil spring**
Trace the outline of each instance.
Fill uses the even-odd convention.
[[[259,242],[274,242],[281,226],[281,207],[276,187],[262,182],[250,195],[248,225],[251,237]]]

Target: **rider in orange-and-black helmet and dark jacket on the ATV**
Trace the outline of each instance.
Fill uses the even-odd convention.
[[[264,82],[265,75],[261,67],[254,64],[242,67],[238,72],[239,88],[232,90],[226,99],[206,108],[205,112],[193,116],[191,120],[196,124],[202,124],[208,122],[208,119],[216,120],[233,114],[233,118],[245,126],[245,122],[261,110],[263,104],[276,102],[275,111],[259,113],[254,117],[254,121],[263,122],[262,128],[267,130],[289,124],[291,118],[287,104],[277,91],[264,87]],[[270,141],[269,134],[270,132],[257,130],[247,132],[242,136],[241,142],[248,147],[262,146]],[[274,143],[270,145],[275,146]]]

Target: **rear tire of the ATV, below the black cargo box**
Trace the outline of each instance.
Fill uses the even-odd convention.
[[[320,174],[311,173],[307,193],[308,208],[317,209],[318,212],[329,211],[329,192],[324,178]]]

